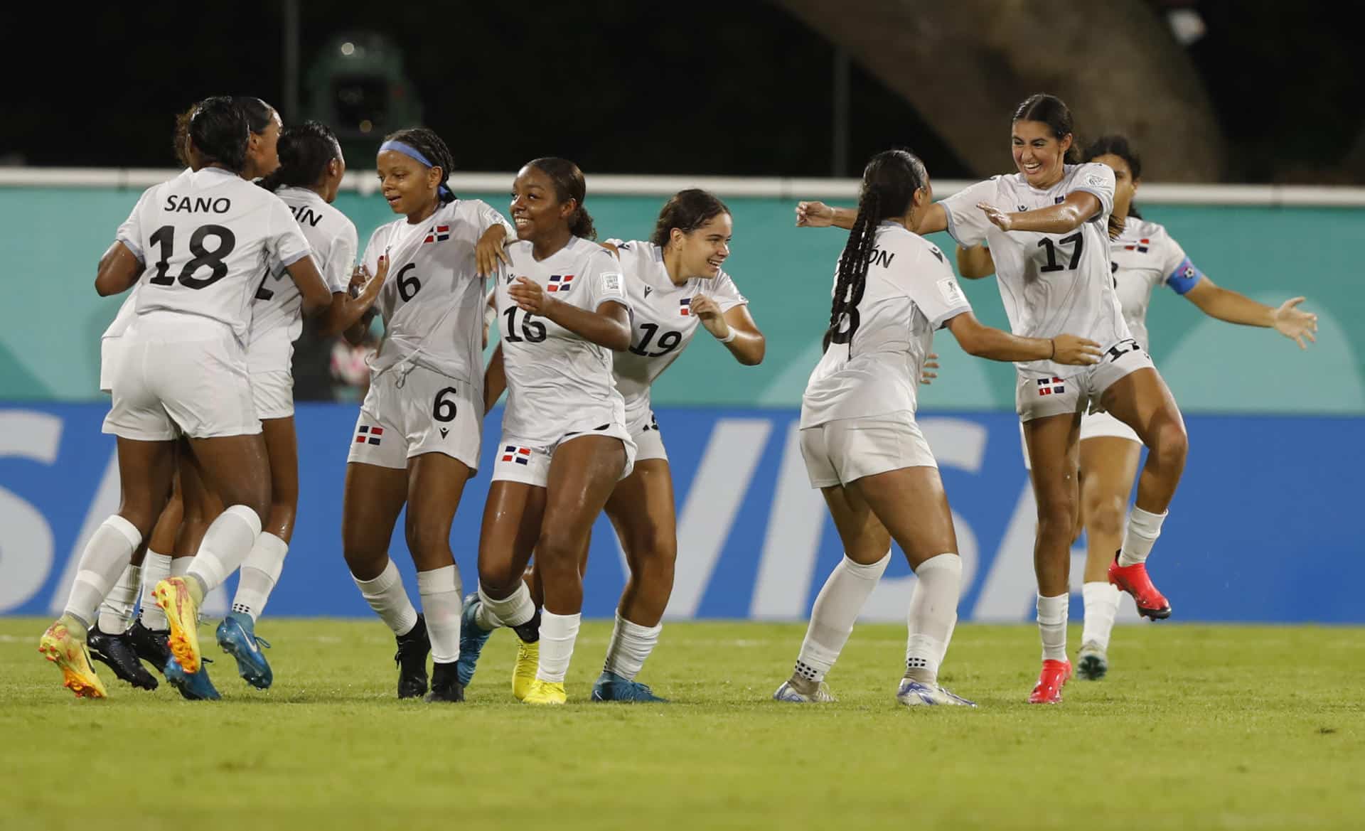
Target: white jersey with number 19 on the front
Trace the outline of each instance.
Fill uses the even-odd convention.
[[[713,278],[693,277],[674,285],[663,267],[663,248],[650,242],[607,240],[617,247],[631,299],[631,351],[616,353],[616,388],[625,398],[625,420],[633,423],[650,408],[650,385],[692,342],[700,323],[692,297],[706,295],[721,312],[748,300],[725,272]]]

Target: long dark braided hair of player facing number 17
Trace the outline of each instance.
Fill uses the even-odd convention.
[[[822,351],[829,349],[830,344],[846,344],[853,338],[852,327],[848,332],[841,329],[849,310],[863,299],[867,269],[876,246],[876,229],[882,220],[904,217],[915,201],[915,191],[924,187],[928,177],[924,162],[909,150],[883,150],[863,168],[857,218],[853,220],[853,229],[839,254],[830,326],[824,330]]]

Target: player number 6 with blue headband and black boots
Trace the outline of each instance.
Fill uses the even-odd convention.
[[[450,523],[479,467],[483,420],[483,278],[474,250],[506,220],[478,199],[456,198],[446,184],[450,150],[430,130],[389,135],[377,162],[384,198],[403,218],[375,231],[363,258],[374,278],[362,297],[378,293],[385,332],[347,457],[341,542],[356,587],[397,639],[399,697],[427,692],[431,652],[426,700],[463,701]],[[364,321],[352,312],[333,323],[354,322],[347,337],[359,341]],[[404,504],[422,615],[388,554]]]

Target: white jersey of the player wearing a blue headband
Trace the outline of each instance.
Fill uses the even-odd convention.
[[[485,293],[474,248],[497,224],[516,236],[489,203],[456,199],[416,225],[394,220],[370,236],[364,263],[371,274],[379,255],[389,255],[389,276],[375,302],[384,341],[374,371],[411,363],[483,389]]]

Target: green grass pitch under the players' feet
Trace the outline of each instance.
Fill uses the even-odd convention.
[[[571,704],[542,710],[511,697],[508,633],[465,704],[399,703],[377,621],[263,621],[269,692],[218,655],[220,703],[102,665],[111,697],[78,701],[37,654],[46,622],[0,619],[0,828],[1365,823],[1365,629],[1119,628],[1108,678],[1031,707],[1036,629],[962,625],[945,680],[980,708],[909,711],[904,628],[860,626],[830,677],[839,703],[799,707],[768,696],[804,628],[732,622],[665,628],[643,680],[672,704],[591,704],[610,633],[592,622]]]

